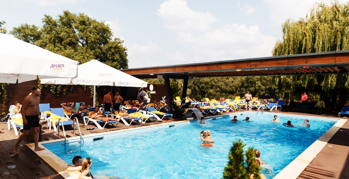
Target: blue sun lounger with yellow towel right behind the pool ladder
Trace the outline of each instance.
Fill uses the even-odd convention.
[[[64,117],[64,116],[66,116],[66,117]],[[63,110],[62,107],[60,107],[60,108],[51,108],[51,115],[50,115],[49,119],[50,119],[50,122],[52,122],[53,129],[56,132],[58,132],[58,127],[57,126],[62,126],[62,130],[63,130],[64,136],[66,136],[64,126],[73,125],[73,127],[75,129],[75,122],[74,122],[74,120],[71,120],[69,118],[69,116],[64,113],[64,110]],[[59,120],[59,119],[61,119],[61,120]],[[76,120],[76,122],[77,122],[77,120]],[[57,126],[56,126],[56,124],[57,124]],[[77,122],[77,127],[78,127],[79,132],[80,132],[79,122]],[[51,130],[51,125],[50,125],[50,130]]]

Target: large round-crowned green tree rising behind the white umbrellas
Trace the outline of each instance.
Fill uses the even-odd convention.
[[[128,68],[127,49],[104,21],[64,11],[57,19],[44,15],[42,28],[22,24],[10,31],[16,38],[79,61],[99,60],[117,69]]]

